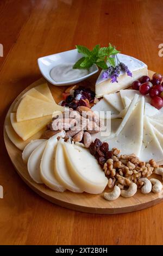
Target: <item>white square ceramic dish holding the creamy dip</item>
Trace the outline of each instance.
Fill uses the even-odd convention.
[[[86,76],[64,82],[54,81],[50,75],[50,72],[54,68],[54,66],[65,63],[76,63],[77,60],[81,57],[83,57],[83,55],[78,53],[77,49],[74,49],[66,52],[60,52],[49,56],[41,57],[37,59],[37,62],[42,76],[45,77],[47,81],[49,81],[52,84],[55,84],[55,86],[69,86],[70,84],[81,82],[85,80],[87,77],[92,76],[93,74],[98,72],[97,66],[93,64],[90,68],[89,74],[87,74]]]

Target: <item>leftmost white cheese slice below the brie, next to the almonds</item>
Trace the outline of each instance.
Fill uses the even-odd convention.
[[[111,115],[118,115],[119,112],[117,109],[112,107],[105,99],[100,100],[96,105],[92,108],[92,111],[96,112],[100,116],[100,112],[104,112],[104,117],[106,118],[106,112],[110,112]]]

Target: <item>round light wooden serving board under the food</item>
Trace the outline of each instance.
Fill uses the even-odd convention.
[[[153,72],[149,71],[149,75],[152,75]],[[91,78],[91,81],[95,80]],[[32,87],[35,87],[43,82],[46,82],[43,78],[34,82],[29,87],[27,87],[9,108],[7,116],[9,117],[10,112],[16,101],[27,92]],[[93,81],[94,82],[94,81]],[[93,83],[95,84],[95,83]],[[51,92],[54,96],[55,101],[59,102],[61,100],[61,93],[65,91],[65,87],[52,86],[48,84]],[[5,124],[7,124],[7,118],[5,118]],[[163,198],[163,191],[160,193],[149,193],[142,194],[140,190],[137,191],[135,196],[130,198],[119,197],[117,200],[109,202],[103,198],[103,194],[87,194],[87,193],[73,193],[70,191],[65,192],[55,192],[45,185],[36,184],[29,176],[27,171],[27,165],[23,163],[22,160],[22,151],[17,149],[14,144],[10,141],[7,136],[7,133],[4,129],[4,142],[7,148],[8,154],[17,173],[21,178],[26,182],[26,184],[31,187],[37,194],[41,197],[51,201],[52,203],[64,206],[68,209],[78,210],[82,212],[89,212],[93,214],[122,214],[124,212],[137,211],[141,209],[148,208],[152,205],[158,204]],[[157,179],[160,179],[160,176],[156,176]],[[160,179],[161,181],[161,179]],[[106,189],[107,191],[107,189]]]

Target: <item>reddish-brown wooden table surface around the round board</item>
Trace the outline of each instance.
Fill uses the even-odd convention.
[[[121,215],[61,208],[24,184],[3,142],[5,114],[15,97],[41,77],[37,58],[111,42],[163,73],[162,0],[12,0],[0,2],[1,245],[163,244],[163,203]]]

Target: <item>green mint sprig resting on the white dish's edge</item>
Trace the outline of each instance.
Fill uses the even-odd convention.
[[[79,53],[82,53],[84,57],[80,58],[74,65],[73,69],[89,69],[93,64],[96,64],[101,69],[108,69],[106,62],[109,62],[111,66],[115,66],[114,56],[120,51],[117,51],[115,46],[109,44],[108,47],[101,47],[96,45],[92,51],[89,48],[76,45]]]

